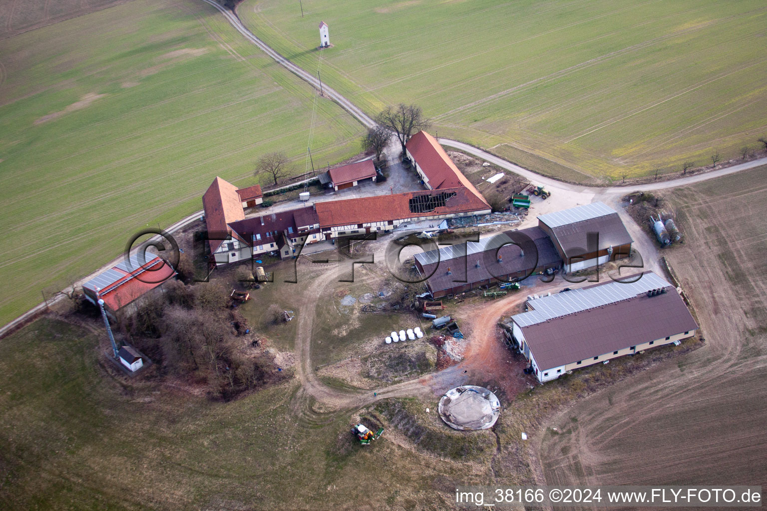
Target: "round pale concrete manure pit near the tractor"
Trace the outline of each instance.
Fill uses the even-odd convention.
[[[447,391],[437,409],[439,417],[454,429],[488,429],[498,420],[501,401],[484,387],[462,385]]]

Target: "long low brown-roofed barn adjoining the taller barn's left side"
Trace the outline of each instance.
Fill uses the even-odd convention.
[[[416,254],[415,260],[418,273],[428,277],[426,287],[434,298],[508,282],[562,264],[551,239],[537,227],[423,252]]]

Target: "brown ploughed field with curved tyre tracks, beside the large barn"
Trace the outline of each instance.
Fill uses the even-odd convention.
[[[667,199],[686,236],[667,257],[706,346],[553,419],[572,434],[543,438],[548,484],[767,484],[767,166]]]

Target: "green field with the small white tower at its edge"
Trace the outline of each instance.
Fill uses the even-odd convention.
[[[417,103],[439,136],[570,181],[703,165],[715,149],[729,159],[767,134],[760,0],[311,0],[303,8],[301,18],[298,2],[245,0],[238,12],[367,113]],[[321,20],[334,47],[317,51]]]

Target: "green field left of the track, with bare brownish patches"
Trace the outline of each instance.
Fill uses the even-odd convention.
[[[209,5],[136,0],[0,41],[0,323],[202,208],[216,175],[255,182],[281,150],[304,172],[362,127]]]

